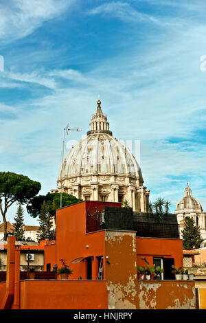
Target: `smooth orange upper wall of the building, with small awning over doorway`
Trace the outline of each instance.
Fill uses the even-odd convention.
[[[71,279],[87,279],[87,260],[81,263],[71,261],[80,257],[93,256],[92,279],[98,278],[98,256],[105,256],[105,231],[88,233],[86,214],[89,208],[97,206],[104,209],[104,202],[83,201],[56,211],[56,263],[67,259],[67,264],[73,269]],[[106,203],[111,206],[121,206],[121,203]],[[89,246],[89,247],[86,247]],[[106,263],[104,257],[104,276]]]

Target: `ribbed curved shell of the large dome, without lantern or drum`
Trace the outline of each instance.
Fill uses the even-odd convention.
[[[60,177],[86,174],[132,175],[142,180],[133,154],[108,133],[93,133],[73,146],[60,170]]]

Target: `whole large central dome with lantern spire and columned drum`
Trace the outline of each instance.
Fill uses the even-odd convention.
[[[113,137],[101,101],[92,115],[87,137],[65,157],[58,177],[58,192],[93,201],[128,201],[134,211],[146,212],[149,192],[137,160]],[[53,190],[54,191],[54,190]]]

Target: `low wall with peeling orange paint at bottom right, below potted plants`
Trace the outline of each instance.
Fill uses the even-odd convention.
[[[137,282],[137,309],[196,309],[194,281]]]

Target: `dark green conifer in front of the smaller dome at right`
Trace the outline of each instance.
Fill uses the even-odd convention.
[[[195,225],[194,219],[187,216],[185,218],[185,225],[182,231],[183,236],[183,248],[191,250],[195,246],[199,248],[201,246],[201,232],[198,225]]]

